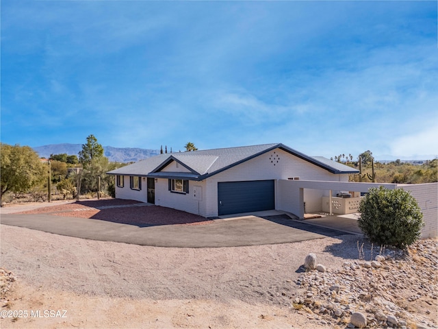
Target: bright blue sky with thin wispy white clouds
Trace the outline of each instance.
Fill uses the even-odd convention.
[[[1,1],[1,142],[438,154],[436,1]]]

